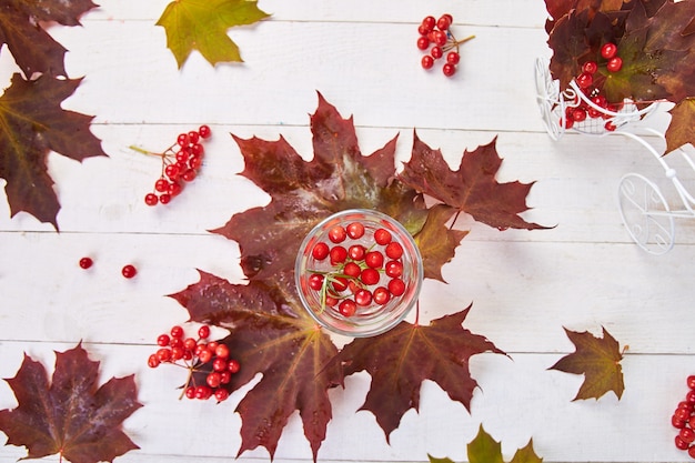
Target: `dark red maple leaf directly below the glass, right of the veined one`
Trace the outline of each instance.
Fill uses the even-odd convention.
[[[504,352],[463,328],[470,309],[434,320],[429,326],[401,322],[377,336],[353,340],[339,354],[345,375],[364,370],[372,376],[360,410],[374,414],[386,441],[407,410],[419,410],[424,380],[434,381],[452,400],[471,409],[477,382],[471,378],[469,359]]]

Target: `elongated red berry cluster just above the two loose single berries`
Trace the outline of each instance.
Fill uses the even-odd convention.
[[[210,138],[210,128],[201,125],[198,131],[180,133],[174,144],[163,153],[157,153],[162,158],[162,173],[154,182],[154,191],[145,194],[145,204],[168,204],[181,193],[187,182],[195,179],[205,152],[202,141]]]

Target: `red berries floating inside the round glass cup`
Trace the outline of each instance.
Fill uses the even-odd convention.
[[[322,308],[352,316],[360,308],[381,306],[405,293],[403,246],[383,228],[373,233],[373,244],[363,244],[360,222],[335,225],[328,232],[330,244],[320,241],[311,250],[315,261],[331,264],[329,271],[311,271],[309,288],[319,292]],[[349,240],[361,240],[349,243]],[[383,275],[383,278],[382,278]]]

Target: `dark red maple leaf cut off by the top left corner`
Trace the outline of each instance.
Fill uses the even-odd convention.
[[[41,22],[79,26],[79,18],[95,8],[91,0],[0,1],[0,46],[6,44],[24,77],[34,73],[66,76],[66,49],[51,38]]]

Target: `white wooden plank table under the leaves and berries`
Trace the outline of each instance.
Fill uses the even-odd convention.
[[[615,194],[626,172],[662,178],[654,159],[621,138],[567,134],[553,142],[544,132],[533,82],[534,59],[550,57],[543,1],[261,0],[269,20],[230,30],[243,66],[212,68],[194,53],[181,71],[154,26],[168,0],[100,3],[82,28],[50,32],[70,50],[70,77],[84,76],[64,107],[95,115],[92,131],[109,158],[80,164],[50,154],[60,233],[24,213],[10,219],[0,199],[1,378],[14,375],[23,352],[52,368],[53,350],[83,340],[104,381],[137,375],[144,407],[124,430],[141,450],[117,461],[213,463],[236,455],[233,410],[244,391],[221,405],[178,401],[181,371],[151,370],[147,356],[161,331],[188,319],[165,295],[198,281],[195,269],[242,279],[236,244],[207,230],[268,195],[238,175],[243,160],[228,133],[282,134],[310,158],[308,114],[320,91],[343,117],[354,115],[363,152],[400,133],[397,155],[407,160],[415,128],[455,167],[464,149],[498,135],[500,179],[536,181],[528,197],[534,209],[524,217],[557,227],[500,232],[464,223],[471,233],[444,266],[452,284],[424,284],[421,319],[473,303],[466,328],[510,354],[473,358],[481,390],[471,413],[425,382],[420,413],[405,414],[389,445],[373,415],[356,412],[370,385],[369,375],[356,374],[345,390],[330,392],[334,417],[319,460],[432,454],[463,462],[482,423],[502,441],[507,461],[531,437],[546,462],[688,461],[673,444],[671,415],[695,373],[695,228],[681,221],[671,253],[644,253],[629,241]],[[415,47],[422,18],[444,12],[460,36],[476,36],[462,48],[453,79],[423,71]],[[3,87],[14,70],[3,49]],[[142,198],[159,161],[128,147],[163,149],[201,123],[214,134],[199,178],[169,207],[147,207]],[[83,255],[94,259],[89,272],[77,265]],[[127,263],[139,269],[133,280],[120,275]],[[572,402],[582,378],[547,370],[574,350],[563,326],[596,334],[605,326],[629,345],[621,401],[607,394]],[[16,405],[0,383],[0,409]],[[0,462],[24,454],[0,447]],[[240,460],[269,455],[259,449]],[[311,460],[299,415],[275,454],[278,462],[294,460]]]

